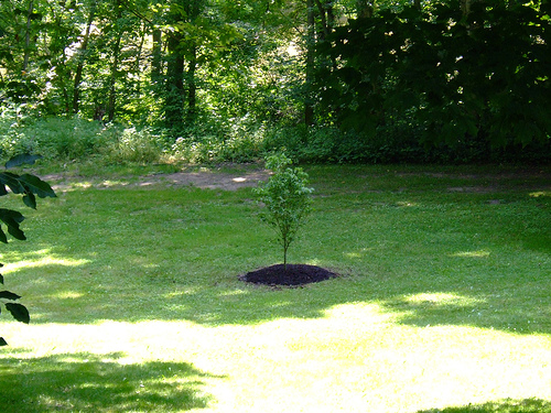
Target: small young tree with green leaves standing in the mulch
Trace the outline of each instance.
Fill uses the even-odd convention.
[[[269,156],[266,166],[273,171],[273,175],[256,189],[266,208],[260,217],[278,232],[285,267],[289,246],[311,211],[310,195],[314,191],[307,186],[307,174],[300,167],[291,167],[291,164],[284,154]]]

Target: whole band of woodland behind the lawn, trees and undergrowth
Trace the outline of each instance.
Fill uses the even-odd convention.
[[[551,160],[548,0],[7,0],[2,157]]]

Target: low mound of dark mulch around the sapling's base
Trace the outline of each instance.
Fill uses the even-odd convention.
[[[306,264],[283,264],[264,267],[248,272],[239,279],[245,282],[267,285],[304,285],[335,278],[336,274],[321,267]]]

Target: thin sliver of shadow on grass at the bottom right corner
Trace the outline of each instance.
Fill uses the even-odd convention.
[[[466,406],[431,409],[418,413],[549,413],[551,402],[540,399],[504,400]]]

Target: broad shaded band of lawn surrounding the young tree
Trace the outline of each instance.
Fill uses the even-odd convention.
[[[393,193],[354,196],[348,205],[342,196],[322,198],[316,228],[303,240],[315,262],[305,263],[349,276],[273,289],[238,281],[259,261],[274,263],[264,237],[249,228],[250,194],[151,194],[67,195],[55,213],[60,228],[50,228],[37,253],[30,244],[2,258],[29,261],[7,283],[23,296],[33,324],[247,325],[374,303],[406,325],[551,334],[548,197],[515,195],[515,203],[493,205],[494,195],[429,194],[407,207]]]

